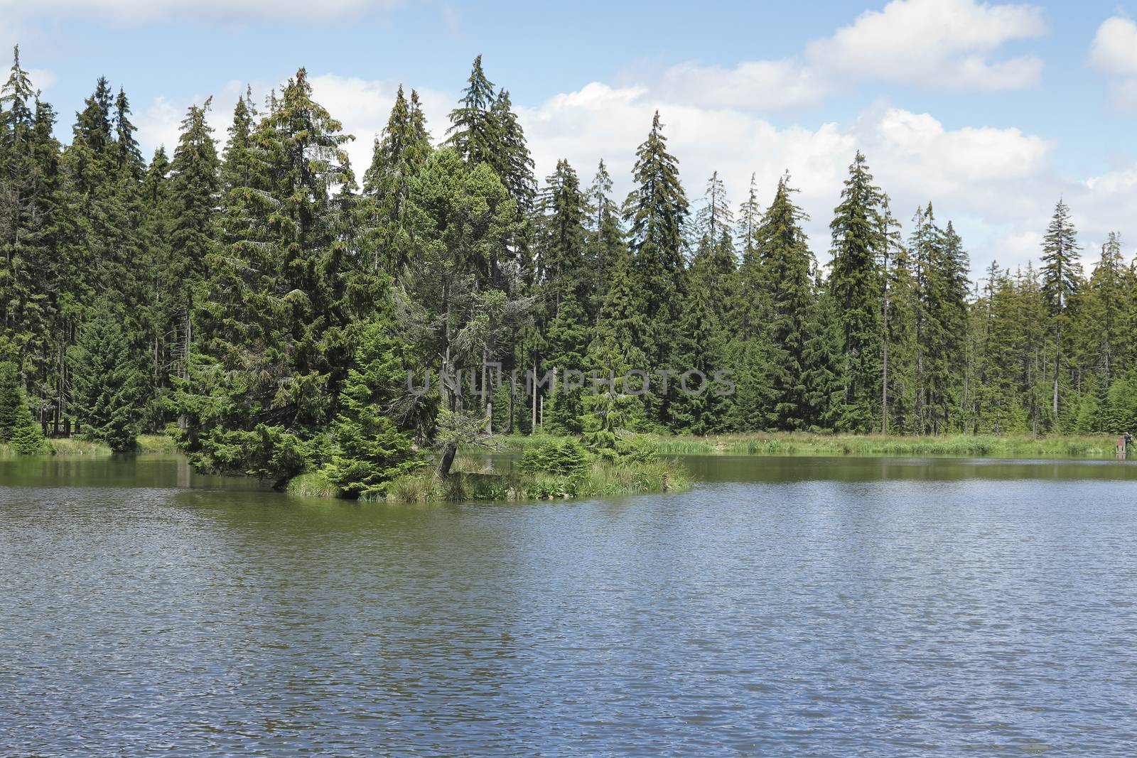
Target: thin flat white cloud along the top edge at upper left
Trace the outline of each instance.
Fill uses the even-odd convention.
[[[387,10],[400,0],[0,0],[0,11],[9,15],[58,15],[110,17],[119,23],[141,24],[171,18],[241,20],[319,20],[330,17]]]

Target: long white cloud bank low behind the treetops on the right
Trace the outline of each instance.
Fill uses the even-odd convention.
[[[789,169],[797,201],[812,216],[806,225],[811,247],[822,261],[828,260],[832,209],[858,149],[906,228],[915,208],[928,201],[941,223],[955,222],[976,276],[993,259],[1011,267],[1037,260],[1039,235],[1060,197],[1073,209],[1087,261],[1137,205],[1137,166],[1090,180],[1064,177],[1052,160],[1055,144],[1018,128],[947,128],[930,114],[887,105],[870,107],[847,124],[778,127],[740,109],[674,102],[648,88],[597,82],[521,110],[538,176],[566,158],[587,183],[604,158],[622,200],[631,189],[636,148],[657,108],[696,205],[712,172],[719,172],[737,203],[752,172],[765,202]]]

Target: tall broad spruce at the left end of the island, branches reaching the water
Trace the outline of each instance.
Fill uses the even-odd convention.
[[[345,194],[348,139],[302,68],[250,136],[249,184],[225,197],[194,302],[207,338],[176,399],[199,467],[283,486],[319,458],[312,441],[338,410],[352,324],[373,308]]]

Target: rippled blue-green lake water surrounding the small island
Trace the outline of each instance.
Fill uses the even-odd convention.
[[[0,461],[0,755],[1137,755],[1132,463],[688,465],[426,508]]]

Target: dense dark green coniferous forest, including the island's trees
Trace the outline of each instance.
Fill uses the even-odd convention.
[[[215,134],[207,111],[231,105]],[[368,166],[302,68],[264,102],[191,106],[149,157],[106,78],[67,143],[63,120],[17,50],[0,441],[19,449],[73,420],[114,450],[166,431],[201,468],[319,469],[363,494],[426,450],[445,473],[465,442],[534,428],[617,457],[623,430],[1137,426],[1137,268],[1119,233],[1085,249],[1061,201],[1036,264],[973,281],[935,199],[893,208],[870,157],[849,156],[831,236],[810,240],[790,173],[745,198],[681,182],[666,114],[617,198],[603,161],[534,176],[481,58],[447,124],[400,89]]]

